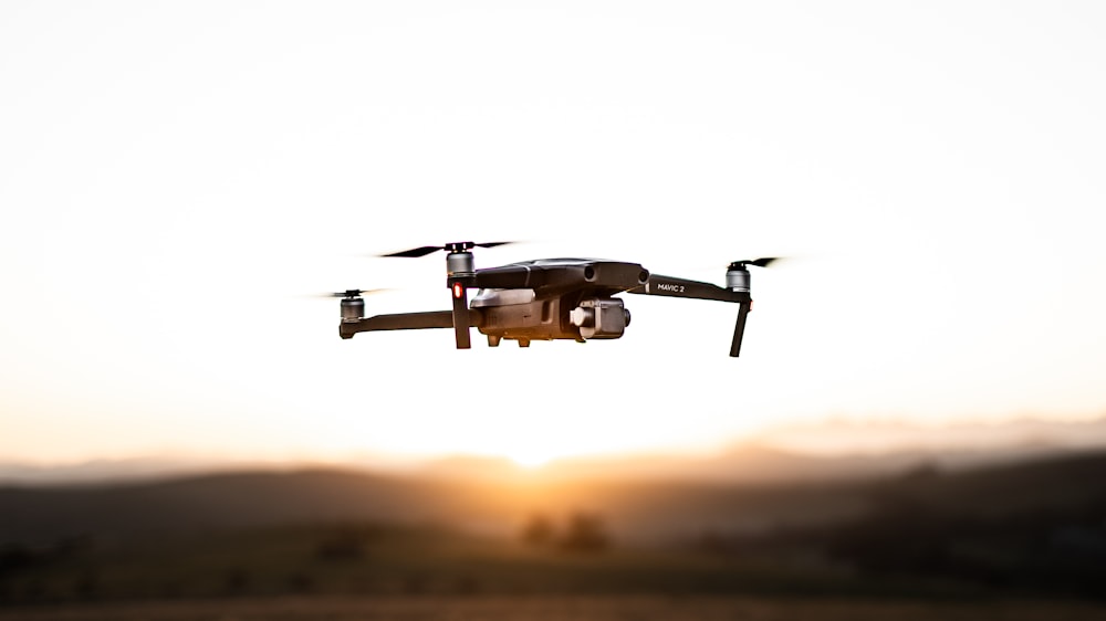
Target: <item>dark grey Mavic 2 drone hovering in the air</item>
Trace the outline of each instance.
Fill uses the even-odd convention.
[[[530,347],[534,340],[620,338],[630,314],[620,293],[714,299],[738,305],[730,356],[741,352],[745,317],[752,310],[748,266],[766,267],[778,257],[734,261],[726,270],[726,286],[653,274],[638,263],[601,259],[538,259],[498,267],[476,269],[474,248],[494,248],[512,242],[455,242],[425,245],[379,256],[419,257],[445,251],[446,285],[452,296],[451,310],[399,313],[365,317],[363,295],[379,290],[347,290],[327,294],[341,297],[338,335],[377,330],[453,328],[458,349],[471,348],[471,328],[488,337],[489,347],[503,339]],[[469,302],[469,291],[476,295]]]

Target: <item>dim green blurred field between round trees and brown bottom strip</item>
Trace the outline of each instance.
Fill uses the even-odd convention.
[[[966,590],[967,589],[967,590]],[[0,602],[286,596],[971,594],[787,555],[564,549],[437,527],[338,524],[72,541],[0,575]]]

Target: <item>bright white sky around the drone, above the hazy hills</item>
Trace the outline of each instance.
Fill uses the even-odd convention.
[[[6,2],[0,461],[718,446],[1106,409],[1100,2]],[[337,337],[449,241],[637,261],[617,341]]]

